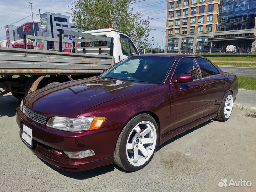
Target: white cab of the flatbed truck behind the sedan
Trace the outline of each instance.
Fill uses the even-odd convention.
[[[130,39],[130,37],[127,34],[118,30],[108,28],[108,29],[85,31],[82,33],[92,34],[96,36],[103,36],[103,37],[112,37],[113,44],[114,44],[113,57],[115,58],[115,63],[127,57],[145,53],[145,49],[142,49],[142,53],[140,53],[137,47],[135,46],[135,44],[133,43],[132,39]],[[79,39],[81,39],[81,37],[79,37]],[[81,44],[82,44],[82,47],[88,46],[90,48],[77,49],[77,53],[99,54],[98,47],[100,46],[110,47],[110,42],[106,42],[106,41],[82,42]],[[95,47],[95,48],[91,48],[91,47]],[[100,54],[110,55],[110,48],[102,48]]]

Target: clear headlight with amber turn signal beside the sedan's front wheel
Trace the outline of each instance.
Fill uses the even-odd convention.
[[[46,126],[65,131],[85,131],[100,129],[106,117],[52,117]]]

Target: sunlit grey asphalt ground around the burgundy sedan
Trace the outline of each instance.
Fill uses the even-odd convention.
[[[66,172],[38,159],[19,138],[12,95],[0,98],[0,191],[256,191],[256,119],[234,109],[227,122],[207,121],[157,148],[137,172],[108,165]],[[250,187],[219,187],[227,179]]]

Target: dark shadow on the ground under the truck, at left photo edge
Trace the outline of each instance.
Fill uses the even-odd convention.
[[[12,95],[5,95],[0,97],[0,117],[15,116],[16,108],[20,106],[20,100],[16,99]]]

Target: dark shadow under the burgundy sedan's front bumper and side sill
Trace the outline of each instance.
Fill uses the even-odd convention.
[[[181,137],[203,127],[203,126],[206,126],[207,124],[213,122],[212,120],[209,120],[209,121],[206,121],[194,128],[191,128],[177,136],[175,136],[174,138],[171,138],[169,140],[167,140],[165,143],[163,143],[161,146],[157,147],[156,148],[156,152],[161,150],[164,146],[174,142],[175,140],[177,139],[180,139]],[[38,158],[40,159],[40,158]],[[81,171],[81,172],[70,172],[70,171],[65,171],[65,170],[61,170],[61,169],[58,169],[56,167],[54,167],[53,165],[49,164],[48,162],[40,159],[44,164],[46,164],[47,166],[51,167],[54,171],[58,172],[59,174],[62,174],[66,177],[70,177],[70,178],[74,178],[74,179],[78,179],[78,180],[84,180],[84,179],[88,179],[88,178],[92,178],[92,177],[96,177],[96,176],[99,176],[99,175],[103,175],[105,173],[108,173],[108,172],[112,172],[114,171],[114,169],[118,169],[119,171],[122,171],[122,172],[125,172],[125,173],[130,173],[129,171],[126,171],[126,170],[123,170],[122,168],[118,167],[116,164],[111,164],[111,165],[105,165],[105,166],[102,166],[102,167],[97,167],[97,168],[94,168],[94,169],[91,169],[91,170],[87,170],[87,171]]]

